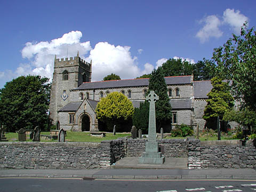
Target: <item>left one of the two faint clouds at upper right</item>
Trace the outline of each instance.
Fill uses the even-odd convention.
[[[222,36],[222,31],[219,29],[221,21],[216,15],[210,15],[199,22],[205,23],[204,27],[196,34],[196,37],[200,39],[201,43],[208,41],[210,37],[218,38]]]

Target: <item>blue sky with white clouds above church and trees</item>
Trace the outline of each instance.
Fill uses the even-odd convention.
[[[20,75],[52,78],[54,55],[92,60],[92,80],[135,78],[170,58],[210,59],[256,1],[1,1],[0,87]]]

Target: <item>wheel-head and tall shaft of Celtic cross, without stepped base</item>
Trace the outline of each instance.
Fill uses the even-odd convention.
[[[156,141],[156,109],[155,102],[159,99],[154,91],[150,91],[146,100],[149,101],[148,140]]]

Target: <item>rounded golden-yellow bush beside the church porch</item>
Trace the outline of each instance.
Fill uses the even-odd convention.
[[[134,108],[132,102],[122,93],[109,93],[106,98],[101,98],[96,108],[99,120],[106,122],[107,129],[113,129],[114,125],[121,125],[131,121]],[[119,128],[117,126],[117,128]]]

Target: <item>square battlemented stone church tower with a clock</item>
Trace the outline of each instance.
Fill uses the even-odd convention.
[[[70,90],[77,88],[83,82],[91,82],[92,61],[85,62],[77,56],[54,59],[54,71],[52,78],[51,101],[50,101],[50,118],[55,124],[59,121],[58,110],[69,103]]]

